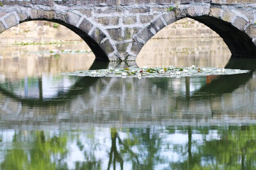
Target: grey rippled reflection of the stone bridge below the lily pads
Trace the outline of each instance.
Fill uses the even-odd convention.
[[[231,58],[227,67],[255,71],[255,60],[247,63],[241,61],[242,59]],[[105,64],[101,67],[92,65],[91,69],[95,69],[95,66],[106,68],[108,63]],[[221,124],[225,120],[231,124],[255,122],[256,117],[252,114],[256,112],[255,99],[248,97],[253,92],[237,93],[244,89],[243,84],[252,79],[253,74],[255,73],[220,76],[193,93],[189,89],[193,85],[190,83],[193,78],[190,77],[162,78],[161,81],[83,77],[65,95],[52,100],[20,98],[0,89],[4,95],[0,103],[2,126],[4,122],[8,124],[10,121],[16,122],[14,124],[64,121],[71,124],[96,123],[111,126],[129,126],[138,122],[138,126]],[[235,82],[232,79],[241,81]],[[216,83],[221,86],[214,88]],[[180,91],[182,88],[185,91]],[[246,119],[240,119],[241,117]]]

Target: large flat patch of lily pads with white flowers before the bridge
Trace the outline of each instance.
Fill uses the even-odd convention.
[[[231,75],[249,73],[249,70],[239,69],[225,69],[225,68],[212,68],[212,67],[162,67],[162,68],[150,68],[144,66],[143,68],[116,68],[112,67],[101,70],[89,70],[89,71],[76,71],[71,73],[64,73],[65,75],[76,76],[90,76],[90,77],[187,77],[198,75]]]

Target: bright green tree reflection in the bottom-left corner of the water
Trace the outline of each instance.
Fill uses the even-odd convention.
[[[67,155],[67,132],[18,131],[1,163],[2,170],[56,170]]]

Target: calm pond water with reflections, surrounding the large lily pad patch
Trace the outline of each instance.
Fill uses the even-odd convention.
[[[230,58],[216,38],[148,44],[136,63],[49,53],[88,48],[80,42],[2,45],[0,169],[255,169],[256,60]],[[252,71],[180,79],[59,74],[144,65]]]

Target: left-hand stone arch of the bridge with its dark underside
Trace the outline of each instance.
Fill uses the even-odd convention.
[[[89,20],[86,14],[76,10],[61,13],[54,10],[32,9],[31,11],[4,13],[0,18],[0,33],[22,22],[33,20],[56,22],[74,31],[88,44],[96,60],[109,61],[109,57],[114,52],[108,33],[105,33],[106,31],[101,29],[97,23]]]

